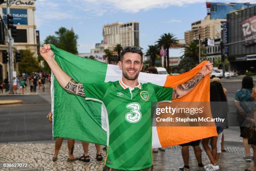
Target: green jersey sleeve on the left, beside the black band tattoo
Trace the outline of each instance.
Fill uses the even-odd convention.
[[[103,100],[109,82],[83,83],[85,98]]]

